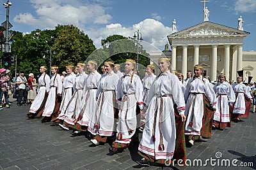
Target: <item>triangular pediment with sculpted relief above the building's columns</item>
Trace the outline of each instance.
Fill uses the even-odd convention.
[[[250,32],[241,31],[225,25],[213,22],[202,22],[201,24],[189,27],[179,32],[170,34],[168,37],[188,37],[188,36],[227,36],[227,35],[248,35]]]

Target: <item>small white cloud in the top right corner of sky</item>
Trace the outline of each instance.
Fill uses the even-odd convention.
[[[235,3],[234,11],[236,12],[255,12],[256,1],[255,0],[238,0]]]

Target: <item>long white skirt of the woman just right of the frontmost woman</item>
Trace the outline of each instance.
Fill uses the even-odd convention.
[[[189,104],[191,103],[189,108]],[[204,116],[204,97],[203,94],[190,94],[186,103],[186,124],[185,135],[200,135],[202,128],[202,119]],[[191,121],[192,120],[192,121]],[[189,124],[193,122],[193,125]]]

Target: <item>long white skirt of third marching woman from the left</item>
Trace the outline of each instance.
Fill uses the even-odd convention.
[[[65,110],[67,108],[68,102],[70,101],[72,97],[72,88],[65,89],[63,92],[63,97],[60,105],[60,110],[59,110],[59,116],[58,119],[64,120],[65,119]]]

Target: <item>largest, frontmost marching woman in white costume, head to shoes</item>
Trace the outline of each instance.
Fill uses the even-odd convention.
[[[182,145],[186,120],[185,101],[180,83],[177,76],[170,73],[170,59],[160,58],[158,64],[161,74],[152,83],[143,110],[147,110],[147,121],[138,148],[138,153],[143,158],[136,161],[143,166],[149,166],[148,161],[159,164],[169,163],[173,154],[180,159],[186,159],[184,145]],[[179,117],[179,123],[176,122],[175,117]],[[183,131],[177,128],[177,125],[181,129],[183,127]],[[177,144],[180,147],[183,146],[182,150],[177,148]]]

